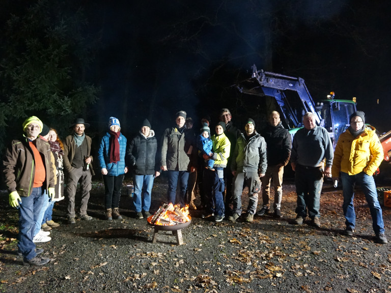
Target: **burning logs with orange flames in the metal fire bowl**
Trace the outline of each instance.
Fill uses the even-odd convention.
[[[190,221],[189,206],[186,205],[184,208],[180,209],[177,204],[175,206],[172,203],[163,204],[163,206],[151,216],[151,219],[148,218],[148,221],[151,224],[161,226],[186,223]]]

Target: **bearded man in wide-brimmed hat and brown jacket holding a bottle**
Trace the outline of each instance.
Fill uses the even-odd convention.
[[[90,198],[91,178],[94,175],[92,168],[91,142],[90,136],[84,133],[90,124],[84,119],[77,118],[70,128],[73,134],[68,135],[64,141],[64,167],[68,173],[68,184],[66,194],[68,195],[68,224],[75,224],[75,195],[77,183],[80,181],[81,220],[91,220],[87,215],[88,199]]]

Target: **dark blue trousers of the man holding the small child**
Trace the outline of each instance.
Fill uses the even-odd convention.
[[[206,201],[207,213],[214,213],[215,216],[225,215],[224,197],[222,192],[225,189],[223,179],[223,168],[214,168],[214,171],[205,169],[203,176],[203,188]]]

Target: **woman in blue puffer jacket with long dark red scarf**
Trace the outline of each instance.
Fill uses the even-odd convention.
[[[102,137],[99,147],[99,165],[104,183],[104,204],[106,220],[122,217],[118,210],[121,197],[122,182],[128,168],[125,165],[126,137],[120,132],[120,121],[110,117],[109,131]]]

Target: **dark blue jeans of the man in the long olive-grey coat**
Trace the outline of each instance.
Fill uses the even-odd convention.
[[[169,170],[169,189],[167,190],[167,201],[173,204],[179,204],[181,208],[185,206],[187,180],[189,172]],[[177,185],[179,181],[179,195],[177,196]]]

